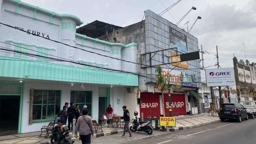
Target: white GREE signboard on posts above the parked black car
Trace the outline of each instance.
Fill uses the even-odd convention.
[[[205,69],[207,86],[231,86],[235,84],[234,68]]]

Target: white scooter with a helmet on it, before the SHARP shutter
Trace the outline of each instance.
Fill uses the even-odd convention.
[[[145,133],[151,135],[153,133],[153,127],[150,121],[138,122],[137,116],[138,116],[138,112],[135,111],[132,119],[132,124],[130,125],[130,130],[133,132],[138,131],[138,133],[140,131],[144,131]]]

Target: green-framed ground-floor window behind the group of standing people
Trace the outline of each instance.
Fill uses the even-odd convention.
[[[92,91],[71,91],[70,96],[70,101],[74,102],[75,105],[79,104],[80,111],[82,111],[84,105],[87,105],[88,115],[91,116]]]

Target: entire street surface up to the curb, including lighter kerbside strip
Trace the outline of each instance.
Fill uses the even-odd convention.
[[[126,133],[128,136],[128,133]],[[92,144],[241,144],[256,143],[256,119],[215,122],[176,132],[153,131],[132,133],[133,138],[122,138],[120,134],[93,138]],[[75,144],[81,144],[76,141]]]

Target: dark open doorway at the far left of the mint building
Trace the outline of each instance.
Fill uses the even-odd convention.
[[[0,135],[18,132],[19,109],[19,95],[0,95]]]

